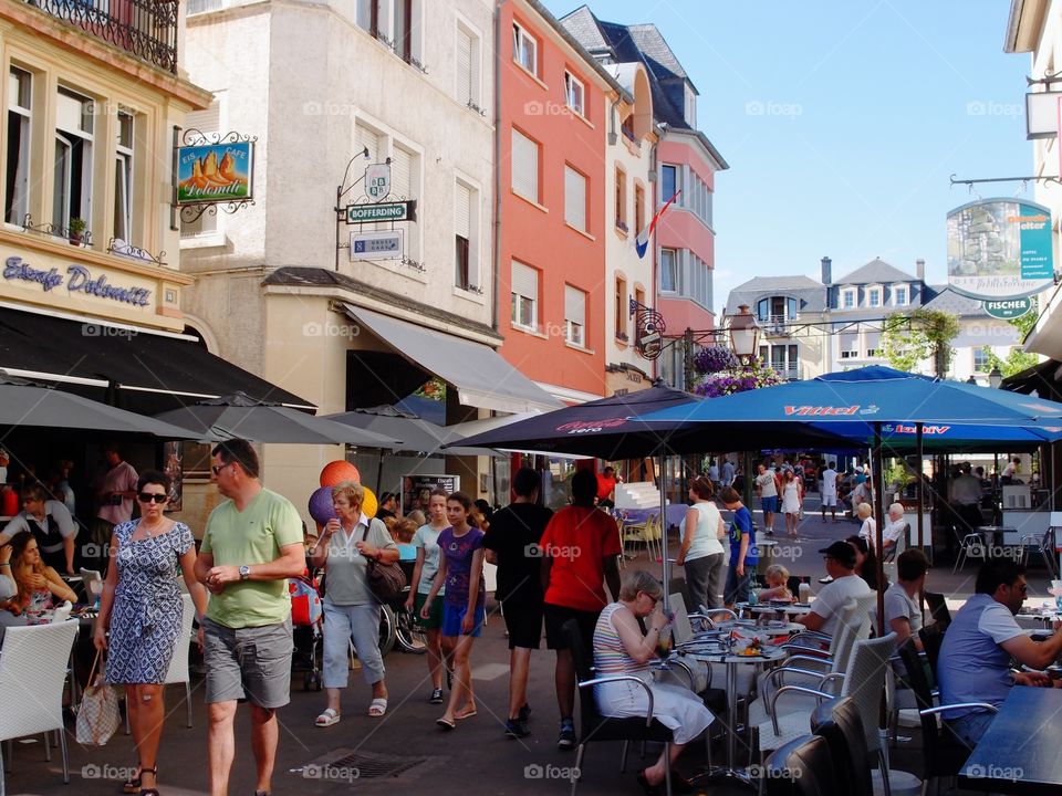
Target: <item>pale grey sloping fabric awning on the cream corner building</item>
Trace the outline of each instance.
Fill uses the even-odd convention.
[[[552,411],[564,406],[490,346],[353,304],[343,306],[351,318],[398,354],[456,387],[465,406],[512,413]]]

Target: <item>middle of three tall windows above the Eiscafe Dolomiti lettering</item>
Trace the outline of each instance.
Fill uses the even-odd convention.
[[[52,223],[69,230],[72,219],[92,221],[93,102],[64,86],[55,103]],[[91,230],[90,230],[91,231]]]

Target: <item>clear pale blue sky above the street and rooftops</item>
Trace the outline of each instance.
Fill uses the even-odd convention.
[[[558,17],[579,2],[546,0]],[[654,22],[700,92],[716,176],[715,308],[751,276],[834,277],[881,256],[943,283],[945,217],[1032,186],[1028,54],[1003,53],[1007,0],[600,0],[598,19]]]

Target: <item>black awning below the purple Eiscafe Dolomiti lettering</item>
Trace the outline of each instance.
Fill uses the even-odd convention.
[[[0,369],[25,371],[37,381],[54,379],[60,389],[150,415],[238,390],[259,400],[313,407],[187,336],[7,307],[0,307]]]

